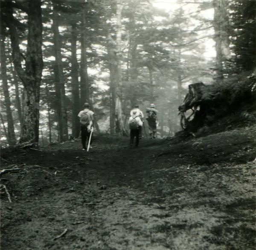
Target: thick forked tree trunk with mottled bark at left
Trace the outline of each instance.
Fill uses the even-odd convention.
[[[13,63],[24,85],[23,126],[20,142],[38,142],[40,84],[43,70],[41,0],[28,0],[28,2],[25,71],[21,65],[23,56],[20,53],[19,36],[15,27],[11,0],[7,2],[6,14],[12,42]]]

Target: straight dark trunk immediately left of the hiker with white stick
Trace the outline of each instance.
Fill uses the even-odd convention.
[[[76,23],[71,24],[71,91],[72,91],[72,136],[79,137],[80,124],[78,113],[80,111],[80,97],[79,97],[79,81],[78,81],[78,68],[79,64],[76,57]]]

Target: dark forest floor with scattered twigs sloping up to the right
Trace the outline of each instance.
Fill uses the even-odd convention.
[[[255,135],[3,149],[1,250],[255,250]]]

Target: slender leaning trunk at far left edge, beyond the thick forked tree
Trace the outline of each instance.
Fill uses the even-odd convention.
[[[6,115],[7,115],[7,142],[10,145],[16,144],[15,139],[15,131],[14,131],[14,122],[12,118],[12,110],[11,110],[11,100],[9,94],[8,81],[6,76],[6,54],[5,54],[5,32],[3,27],[1,27],[0,32],[0,62],[1,62],[1,78],[2,78],[2,87],[3,87],[3,95],[6,107]]]

